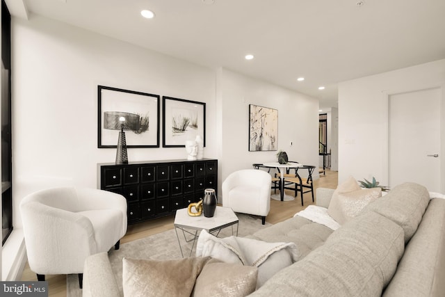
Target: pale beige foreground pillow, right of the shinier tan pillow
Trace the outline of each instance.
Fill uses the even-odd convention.
[[[243,297],[248,296],[257,285],[258,269],[211,259],[202,268],[195,282],[193,297]]]

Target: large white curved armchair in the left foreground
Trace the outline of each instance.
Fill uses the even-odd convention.
[[[31,193],[20,203],[26,252],[38,280],[79,274],[89,255],[119,249],[127,232],[124,196],[95,188],[61,187]]]

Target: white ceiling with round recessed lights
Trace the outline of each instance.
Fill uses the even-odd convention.
[[[341,81],[445,58],[444,0],[6,3],[12,15],[38,14],[192,63],[226,67],[316,97],[321,108],[337,106]],[[156,17],[144,19],[143,9]],[[254,59],[246,61],[246,54]]]

